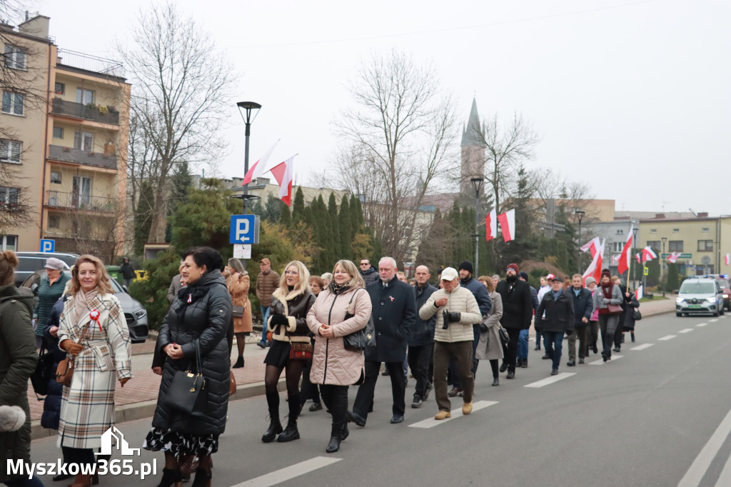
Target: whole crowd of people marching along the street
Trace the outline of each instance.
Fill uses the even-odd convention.
[[[162,379],[151,429],[143,441],[143,448],[164,453],[158,487],[180,485],[192,474],[192,486],[211,485],[211,456],[226,426],[231,369],[245,366],[246,336],[253,333],[252,284],[242,263],[230,259],[224,265],[221,254],[209,247],[189,249],[181,257],[168,292],[170,309],[156,342],[152,365]],[[116,383],[124,387],[132,379],[129,331],[110,277],[91,255],[79,257],[70,279],[50,258],[33,308],[30,297],[20,295],[12,284],[16,265],[15,254],[0,253],[0,371],[6,371],[0,376],[0,423],[15,418],[17,426],[10,436],[2,433],[0,438],[12,442],[8,458],[29,461],[27,380],[37,366],[37,349],[41,354],[50,350],[54,373],[42,425],[58,429],[57,445],[65,463],[94,464],[104,458],[94,450],[114,423]],[[585,283],[579,275],[561,279],[548,274],[540,278],[539,289],[531,287],[528,274],[513,263],[501,279],[475,277],[472,264],[463,261],[456,268],[442,268],[436,285],[425,265],[414,269],[409,282],[391,257],[382,257],[377,269],[368,259],[360,260],[360,269],[340,260],[332,273],[322,276],[310,276],[299,261],[287,263],[280,276],[263,258],[260,271],[254,286],[263,322],[257,344],[268,349],[263,379],[269,426],[261,437],[266,443],[299,439],[300,412],[312,401],[310,411],[325,404],[332,415],[325,450],[338,451],[349,436],[348,423],[366,427],[381,375],[391,383],[390,423],[402,423],[409,369],[415,380],[412,408],[423,407],[433,390],[434,420],[450,418],[453,398],[461,398],[462,413],[469,415],[480,360],[490,363],[493,386],[500,385],[501,373],[514,379],[516,369],[528,366],[531,324],[535,350],[545,348],[543,358],[550,360],[552,375],[561,366],[565,336],[567,366],[577,366],[577,355],[578,364],[583,364],[590,352],[598,353],[599,334],[605,361],[621,350],[625,331],[635,341],[639,303],[607,270],[599,283],[593,278]],[[374,334],[374,343],[354,347],[352,336],[364,329]],[[232,360],[234,337],[237,353]],[[69,360],[74,373],[64,381],[58,371]],[[286,426],[277,389],[283,372]],[[192,388],[183,382],[189,380],[186,377],[195,377]],[[202,382],[196,385],[198,377]],[[181,401],[181,384],[191,392],[201,389],[194,401]],[[349,409],[352,385],[357,392]],[[6,445],[0,447],[7,451]],[[37,477],[10,475],[0,482],[42,485]],[[96,476],[79,473],[72,486],[96,482]]]

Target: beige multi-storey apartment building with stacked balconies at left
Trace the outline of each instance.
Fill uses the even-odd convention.
[[[14,140],[1,141],[0,163],[22,167],[19,186],[33,222],[1,228],[1,243],[37,251],[50,239],[56,252],[113,260],[124,241],[130,85],[120,63],[58,49],[49,20],[37,15],[17,28],[0,26],[6,65],[8,53],[18,53],[17,69],[31,73],[26,78],[44,97],[23,106],[12,88],[3,93],[0,126],[10,127]],[[0,187],[3,194],[11,192]]]

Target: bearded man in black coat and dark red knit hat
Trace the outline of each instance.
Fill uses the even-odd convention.
[[[496,292],[502,298],[503,315],[500,324],[507,330],[510,341],[507,344],[507,356],[500,371],[507,369],[507,379],[515,379],[515,359],[518,352],[520,330],[531,327],[533,318],[533,301],[531,288],[527,282],[518,279],[518,264],[507,265],[507,277],[498,283]]]

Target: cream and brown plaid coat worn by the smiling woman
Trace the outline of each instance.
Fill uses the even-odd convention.
[[[98,322],[89,317],[94,309],[100,313]],[[74,361],[71,386],[64,388],[61,397],[57,445],[99,448],[102,434],[114,424],[115,381],[132,377],[132,345],[124,312],[114,295],[96,295],[78,322],[74,316],[74,296],[70,296],[61,313],[58,340],[77,342],[84,328],[88,331],[81,342],[84,349]]]

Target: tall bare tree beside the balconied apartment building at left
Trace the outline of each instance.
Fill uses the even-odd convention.
[[[134,90],[129,186],[134,195],[142,181],[151,182],[155,211],[148,241],[159,242],[175,167],[211,164],[223,150],[221,126],[230,113],[234,75],[211,36],[171,3],[140,13],[131,37],[133,48],[119,48]]]

